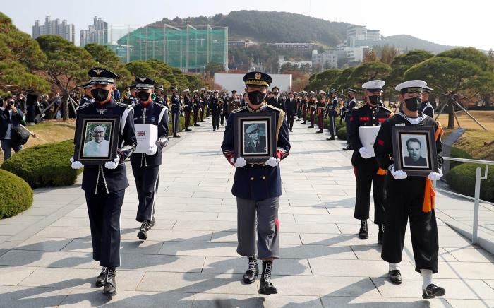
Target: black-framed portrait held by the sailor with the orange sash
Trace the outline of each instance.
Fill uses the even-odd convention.
[[[392,126],[394,170],[427,177],[438,172],[438,151],[432,126]]]

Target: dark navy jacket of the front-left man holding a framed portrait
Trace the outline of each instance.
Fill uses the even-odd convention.
[[[112,100],[103,106],[98,102],[80,105],[77,109],[78,114],[121,114],[119,129],[119,149],[117,154],[120,161],[116,169],[107,169],[104,166],[87,165],[84,166],[83,172],[83,190],[97,192],[97,186],[103,181],[107,193],[119,191],[128,187],[127,172],[124,160],[135,150],[137,139],[135,138],[135,127],[133,109],[129,105]]]

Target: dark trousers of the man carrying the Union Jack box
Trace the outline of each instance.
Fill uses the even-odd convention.
[[[155,198],[159,182],[158,172],[159,165],[142,168],[132,166],[132,173],[134,174],[139,199],[135,220],[140,223],[144,220],[152,220],[152,217],[155,215]]]

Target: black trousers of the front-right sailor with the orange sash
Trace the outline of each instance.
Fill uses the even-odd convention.
[[[410,218],[411,246],[414,251],[415,271],[421,269],[438,273],[438,225],[434,210],[424,213],[423,194],[425,177],[386,179],[386,230],[382,239],[381,257],[390,263],[402,261],[406,223]]]

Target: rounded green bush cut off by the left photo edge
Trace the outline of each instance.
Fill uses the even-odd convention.
[[[32,189],[16,174],[0,170],[0,218],[17,215],[32,206]]]

